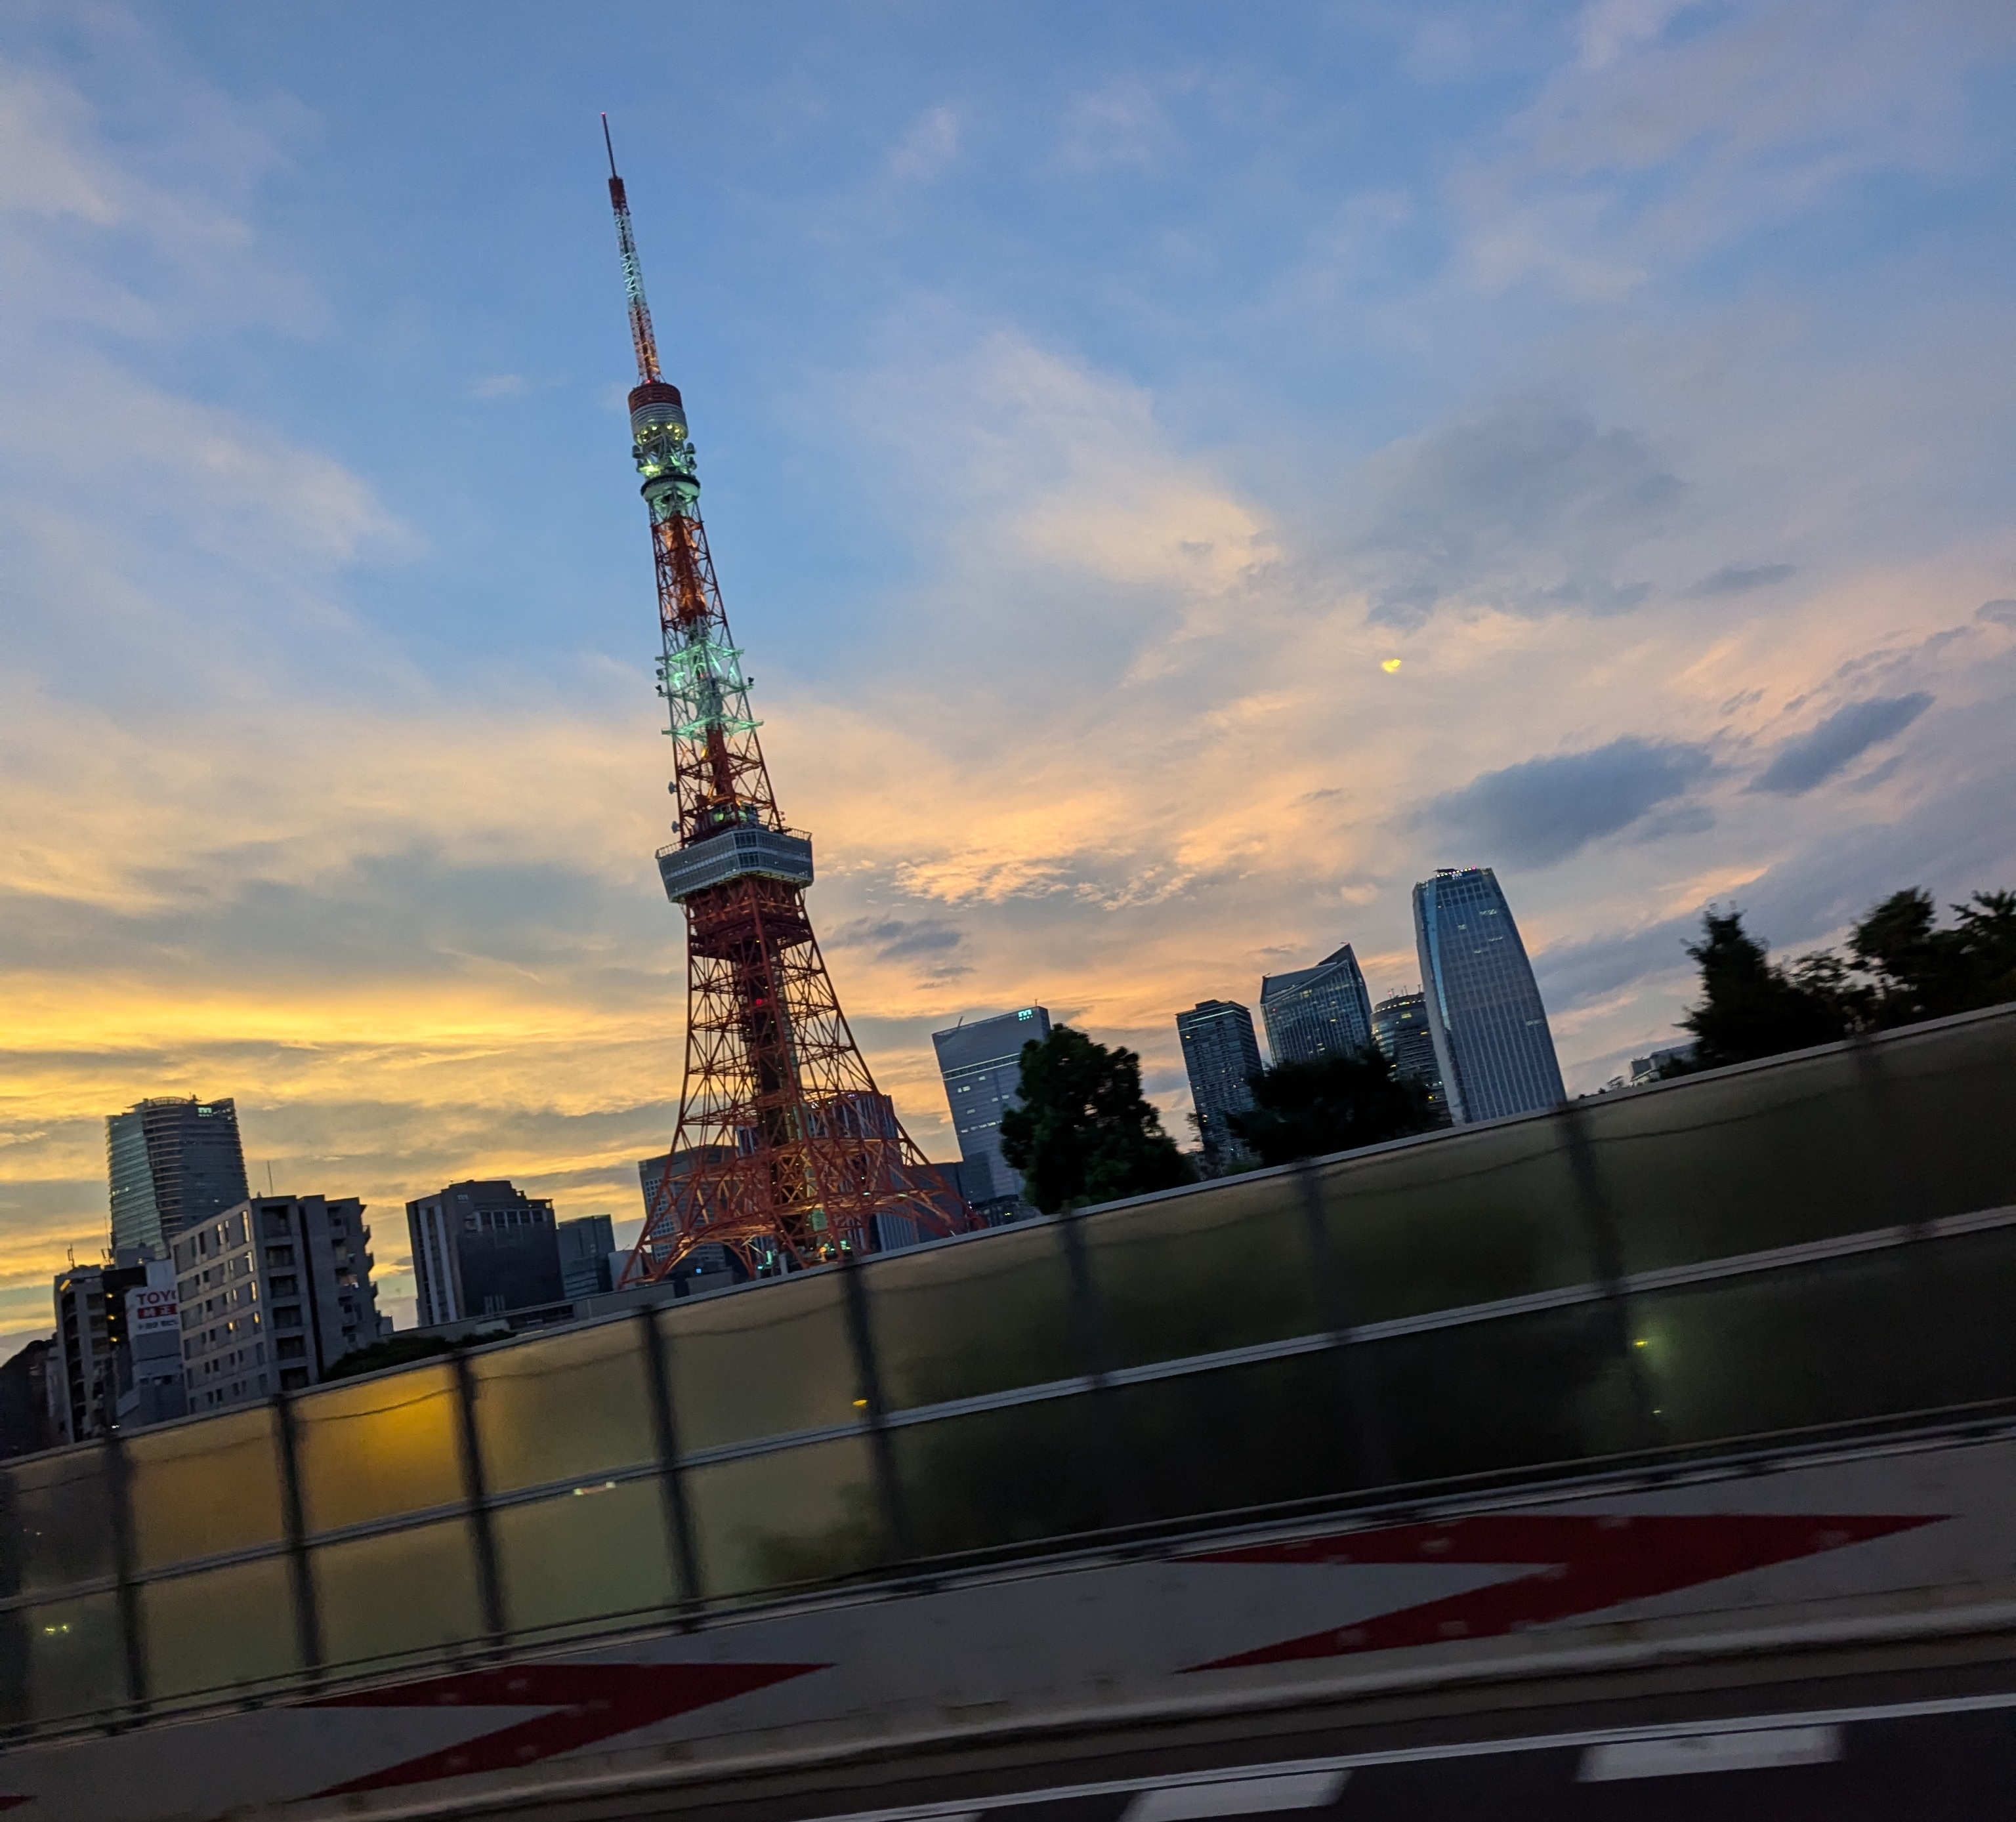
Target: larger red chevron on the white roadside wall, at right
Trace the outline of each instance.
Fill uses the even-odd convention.
[[[1189,1671],[1232,1671],[1302,1657],[1347,1657],[1441,1645],[1450,1639],[1496,1639],[1524,1626],[1544,1626],[1625,1600],[1671,1594],[1748,1568],[1792,1562],[1845,1544],[1887,1538],[1939,1524],[1943,1514],[1907,1518],[1816,1518],[1780,1514],[1566,1518],[1492,1514],[1443,1524],[1405,1524],[1375,1532],[1341,1532],[1296,1544],[1256,1544],[1214,1550],[1191,1562],[1530,1562],[1530,1574],[1468,1594],[1403,1606],[1325,1633],[1262,1645],[1234,1657],[1187,1665]]]

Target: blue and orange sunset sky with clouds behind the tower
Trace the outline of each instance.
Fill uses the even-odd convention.
[[[1683,943],[2016,887],[2016,10],[0,12],[0,1352],[105,1115],[635,1225],[683,929],[607,109],[810,909],[1139,1050],[1498,869],[1570,1090]],[[270,1177],[268,1177],[270,1171]]]

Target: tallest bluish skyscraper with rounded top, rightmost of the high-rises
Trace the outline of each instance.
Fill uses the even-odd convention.
[[[1413,889],[1413,941],[1454,1121],[1564,1100],[1546,1008],[1498,875],[1443,867],[1423,879]]]

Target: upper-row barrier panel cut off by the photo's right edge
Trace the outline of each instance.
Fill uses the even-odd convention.
[[[1869,1046],[1877,1123],[1893,1135],[1907,1207],[1933,1221],[2016,1205],[2016,1008]]]

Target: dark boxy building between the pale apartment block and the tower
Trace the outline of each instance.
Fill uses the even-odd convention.
[[[421,1328],[562,1298],[552,1201],[502,1177],[450,1183],[405,1205]]]

